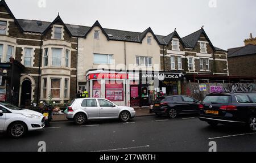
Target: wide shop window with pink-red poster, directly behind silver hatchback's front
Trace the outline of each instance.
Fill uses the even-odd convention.
[[[123,101],[122,81],[109,81],[106,83],[106,99],[110,101]]]

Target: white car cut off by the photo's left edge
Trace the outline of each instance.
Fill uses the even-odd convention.
[[[43,114],[0,102],[1,132],[7,132],[7,134],[13,138],[20,138],[24,136],[27,131],[39,130],[43,127]]]

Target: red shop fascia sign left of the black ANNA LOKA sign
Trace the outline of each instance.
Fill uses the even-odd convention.
[[[118,73],[98,73],[90,74],[88,80],[91,79],[127,79],[127,74],[118,74]]]

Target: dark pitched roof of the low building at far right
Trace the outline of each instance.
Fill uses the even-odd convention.
[[[256,54],[256,45],[246,45],[242,48],[228,49],[228,57],[238,57],[243,55]]]

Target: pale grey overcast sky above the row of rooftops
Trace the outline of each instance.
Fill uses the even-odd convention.
[[[38,5],[39,1],[46,1]],[[210,5],[209,5],[210,2]],[[216,2],[216,3],[215,3]],[[6,0],[17,19],[52,22],[60,12],[64,23],[143,32],[151,27],[156,35],[177,28],[180,37],[204,25],[214,46],[243,46],[250,33],[256,37],[255,0]]]

